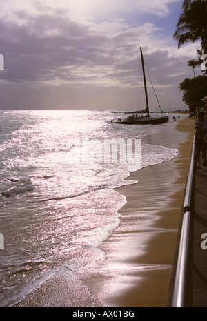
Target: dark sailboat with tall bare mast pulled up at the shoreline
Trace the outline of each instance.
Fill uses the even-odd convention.
[[[127,124],[127,125],[135,125],[135,124],[161,124],[161,123],[167,123],[169,120],[168,116],[161,116],[161,117],[152,117],[150,116],[149,112],[149,103],[148,103],[148,91],[146,86],[146,75],[145,75],[145,68],[144,68],[144,58],[142,54],[142,50],[140,47],[141,52],[141,65],[142,65],[142,72],[143,72],[143,78],[144,78],[144,90],[145,90],[145,98],[146,98],[146,116],[139,116],[136,114],[136,116],[133,114],[133,116],[128,116],[124,120],[121,120],[121,118],[118,118],[118,121],[115,121],[117,124]],[[136,112],[135,112],[136,113]]]

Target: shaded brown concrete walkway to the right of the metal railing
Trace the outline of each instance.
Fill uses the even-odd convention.
[[[193,307],[207,307],[207,167],[202,166],[195,177]]]

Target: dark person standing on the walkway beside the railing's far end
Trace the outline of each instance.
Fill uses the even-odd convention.
[[[198,119],[195,122],[195,130],[197,130],[197,169],[200,169],[200,158],[202,152],[203,165],[206,166],[206,149],[204,149],[204,138],[207,134],[207,121],[204,112],[199,112]]]

